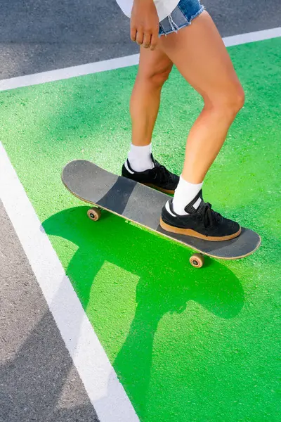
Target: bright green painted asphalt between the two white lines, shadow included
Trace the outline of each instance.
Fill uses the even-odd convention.
[[[229,52],[247,101],[204,198],[258,231],[262,246],[244,260],[208,259],[200,270],[187,248],[121,218],[91,222],[60,181],[76,158],[120,173],[136,67],[0,94],[0,139],[145,422],[280,421],[281,39]],[[170,170],[181,172],[201,108],[174,70],[153,139]]]

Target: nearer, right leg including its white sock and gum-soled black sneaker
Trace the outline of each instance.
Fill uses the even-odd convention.
[[[203,12],[188,27],[162,37],[159,47],[204,99],[204,108],[186,144],[185,162],[173,203],[166,203],[160,224],[166,231],[209,241],[235,238],[240,225],[204,203],[202,181],[244,104],[237,78],[213,20]]]

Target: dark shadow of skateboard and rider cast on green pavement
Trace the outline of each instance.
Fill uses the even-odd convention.
[[[88,209],[82,206],[64,210],[42,225],[48,235],[60,236],[77,245],[66,272],[85,310],[96,275],[105,262],[139,277],[136,312],[113,366],[138,416],[143,418],[153,339],[162,317],[184,312],[192,300],[220,318],[231,319],[243,307],[244,292],[235,274],[220,262],[211,260],[209,266],[194,269],[188,263],[187,248],[115,215],[91,222],[86,217]],[[110,324],[114,325],[115,321]],[[103,347],[108,351],[110,345]]]

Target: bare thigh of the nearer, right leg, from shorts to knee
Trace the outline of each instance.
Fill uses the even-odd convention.
[[[204,99],[242,93],[221,35],[206,11],[191,25],[161,37],[159,49]]]

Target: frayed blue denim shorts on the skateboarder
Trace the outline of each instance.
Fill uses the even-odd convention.
[[[181,28],[190,25],[202,11],[204,11],[204,6],[201,6],[200,0],[180,0],[171,15],[159,23],[159,37],[178,32]]]

